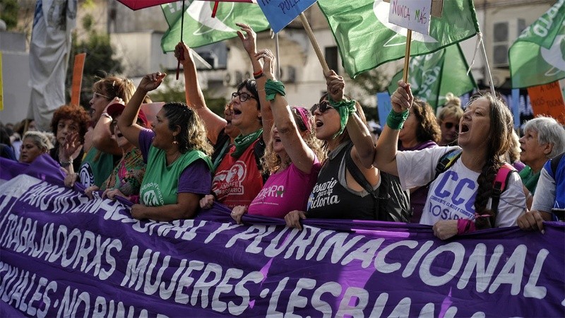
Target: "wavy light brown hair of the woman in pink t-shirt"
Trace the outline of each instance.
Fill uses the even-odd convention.
[[[302,108],[302,111],[298,110],[298,107],[291,106],[290,110],[292,112],[292,117],[295,119],[295,123],[299,131],[308,131],[306,136],[303,137],[304,141],[308,145],[308,147],[314,151],[316,158],[318,158],[319,162],[323,162],[326,160],[326,151],[324,150],[323,143],[321,140],[316,138],[316,131],[314,130],[314,116],[312,116],[311,112],[307,109]],[[300,112],[304,114],[307,118],[308,124],[304,123],[302,120],[302,116]],[[273,139],[270,139],[269,143],[265,148],[265,153],[261,158],[261,165],[262,165],[262,173],[264,175],[272,175],[280,168],[285,169],[291,163],[290,158],[287,157],[287,160],[283,162],[280,159],[279,155],[273,151]]]

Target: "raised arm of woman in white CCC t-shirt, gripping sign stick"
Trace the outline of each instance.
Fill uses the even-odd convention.
[[[396,166],[396,153],[398,152],[398,134],[408,117],[408,110],[412,106],[414,96],[410,84],[398,81],[398,88],[391,96],[393,109],[388,114],[379,141],[376,142],[374,165],[384,172],[398,176]],[[392,127],[391,127],[392,126]]]

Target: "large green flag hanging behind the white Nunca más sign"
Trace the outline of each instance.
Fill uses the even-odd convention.
[[[406,29],[388,23],[383,0],[318,0],[351,76],[404,57]],[[479,32],[472,0],[444,0],[441,18],[432,16],[429,35],[412,33],[411,55],[435,52]]]

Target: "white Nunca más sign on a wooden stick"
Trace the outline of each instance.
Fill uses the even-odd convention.
[[[429,35],[432,0],[391,0],[388,22]]]

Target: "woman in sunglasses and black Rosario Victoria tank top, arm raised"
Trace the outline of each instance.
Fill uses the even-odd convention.
[[[328,93],[314,105],[312,114],[316,138],[325,143],[328,159],[309,196],[307,211],[291,211],[285,216],[292,228],[302,228],[299,221],[304,218],[377,218],[376,197],[367,189],[375,193],[381,179],[373,166],[375,148],[363,110],[355,100],[344,98],[343,77],[330,71],[326,85]]]

